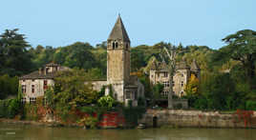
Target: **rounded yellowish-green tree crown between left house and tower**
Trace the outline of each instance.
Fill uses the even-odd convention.
[[[90,84],[91,76],[84,70],[67,70],[55,78],[54,103],[73,107],[96,103],[97,92]],[[85,84],[85,82],[88,82]]]

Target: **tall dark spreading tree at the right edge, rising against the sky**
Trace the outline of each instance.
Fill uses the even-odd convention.
[[[223,41],[227,43],[223,50],[230,54],[231,59],[242,63],[249,80],[253,78],[256,61],[256,31],[240,30],[226,36]]]

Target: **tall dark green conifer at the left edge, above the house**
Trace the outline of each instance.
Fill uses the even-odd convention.
[[[31,46],[25,41],[25,35],[18,29],[6,30],[0,35],[0,74],[21,75],[31,70]]]

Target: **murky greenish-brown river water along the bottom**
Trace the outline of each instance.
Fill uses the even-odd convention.
[[[256,130],[83,130],[0,124],[0,140],[256,140]]]

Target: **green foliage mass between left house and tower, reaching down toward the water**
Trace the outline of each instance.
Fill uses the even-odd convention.
[[[53,110],[56,110],[62,118],[66,118],[72,109],[96,104],[99,96],[98,92],[93,90],[90,79],[91,76],[84,70],[74,69],[60,72],[54,79],[52,93],[46,93]],[[85,84],[85,81],[89,82]]]

